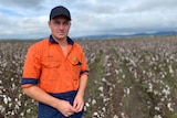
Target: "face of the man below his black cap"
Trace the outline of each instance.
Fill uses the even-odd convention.
[[[63,15],[55,17],[49,21],[52,35],[55,40],[64,40],[69,34],[71,22]]]

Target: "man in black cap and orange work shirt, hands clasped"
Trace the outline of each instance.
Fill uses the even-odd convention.
[[[28,50],[21,87],[39,101],[38,118],[81,118],[88,67],[82,47],[67,36],[70,11],[51,10],[51,35]]]

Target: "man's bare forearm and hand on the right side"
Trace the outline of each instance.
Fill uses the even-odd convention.
[[[82,75],[80,77],[80,86],[79,86],[79,92],[75,96],[74,99],[74,105],[73,107],[79,111],[81,111],[84,107],[84,93],[87,84],[87,75]]]

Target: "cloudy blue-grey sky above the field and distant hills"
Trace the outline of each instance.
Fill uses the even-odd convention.
[[[71,37],[177,31],[177,0],[0,0],[0,39],[49,36],[56,6],[71,12]]]

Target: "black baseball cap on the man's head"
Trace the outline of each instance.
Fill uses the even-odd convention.
[[[59,17],[59,15],[63,15],[63,17],[67,18],[71,21],[70,11],[66,8],[62,7],[62,6],[55,7],[55,8],[53,8],[51,10],[50,20],[55,18],[55,17]]]

